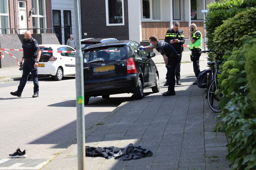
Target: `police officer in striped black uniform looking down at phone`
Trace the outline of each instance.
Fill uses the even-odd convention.
[[[180,23],[174,22],[173,28],[167,30],[165,35],[165,42],[170,43],[175,50],[177,51],[179,58],[175,66],[175,75],[176,75],[176,85],[181,85],[180,83],[180,64],[181,64],[181,57],[183,51],[183,44],[185,42],[184,32],[179,30]],[[168,86],[166,82],[164,86]]]

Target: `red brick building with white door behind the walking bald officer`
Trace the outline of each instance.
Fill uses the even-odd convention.
[[[0,48],[21,49],[21,40],[26,30],[31,31],[33,38],[39,44],[46,42],[51,37],[52,43],[56,42],[52,26],[51,0],[1,0],[0,1]],[[50,5],[48,5],[50,4]],[[56,37],[56,36],[55,36]],[[51,43],[51,42],[47,42]],[[2,50],[3,52],[3,50]],[[19,61],[22,51],[8,51]],[[0,68],[17,66],[17,61],[3,52],[0,58]]]

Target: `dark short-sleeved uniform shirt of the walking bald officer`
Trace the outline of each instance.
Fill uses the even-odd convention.
[[[24,58],[37,58],[37,51],[40,50],[38,42],[33,37],[30,38],[29,42],[23,39],[22,48]]]

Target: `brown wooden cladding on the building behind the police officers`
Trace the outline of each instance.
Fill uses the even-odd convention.
[[[184,31],[185,39],[189,38],[189,24],[188,22],[179,22],[181,30]],[[204,34],[204,22],[203,21],[191,21],[196,24],[197,29]],[[170,22],[142,22],[141,32],[142,41],[148,41],[150,36],[156,35],[159,40],[164,40],[167,30],[170,29]],[[204,36],[203,36],[204,37]]]

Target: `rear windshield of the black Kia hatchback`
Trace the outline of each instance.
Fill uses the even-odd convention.
[[[105,61],[117,61],[127,59],[128,46],[100,47],[88,51],[83,51],[84,63],[96,63]]]

